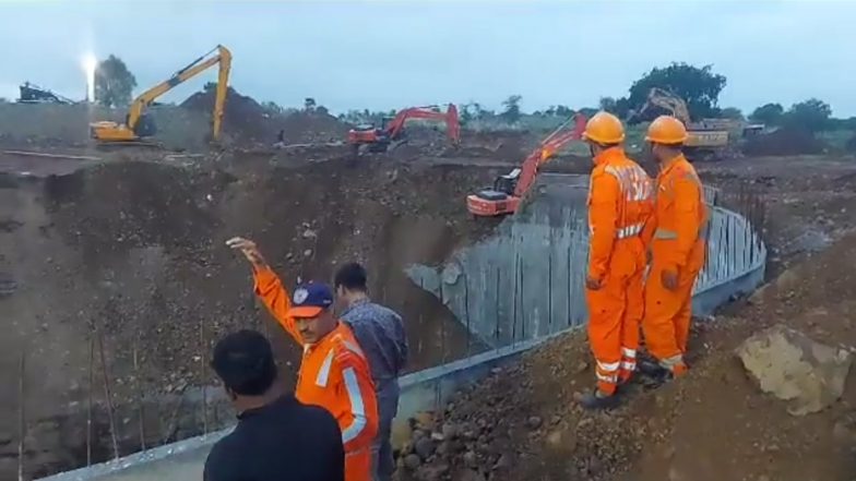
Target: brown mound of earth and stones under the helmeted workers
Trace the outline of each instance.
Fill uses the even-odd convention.
[[[555,340],[461,393],[443,412],[414,419],[400,479],[852,480],[853,372],[831,406],[793,416],[789,402],[759,388],[735,349],[782,324],[835,352],[853,350],[854,263],[851,235],[783,273],[736,314],[698,322],[690,374],[656,389],[634,386],[611,412],[583,412],[574,401],[594,378],[584,333]]]

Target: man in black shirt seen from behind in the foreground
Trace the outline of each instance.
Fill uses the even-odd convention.
[[[211,365],[238,412],[238,425],[211,449],[204,481],[344,481],[338,423],[325,409],[283,393],[261,333],[224,337]]]

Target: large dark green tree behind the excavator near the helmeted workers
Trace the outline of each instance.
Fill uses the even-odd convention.
[[[683,62],[673,62],[665,68],[654,68],[633,82],[630,86],[628,108],[639,111],[651,88],[659,87],[683,99],[694,119],[711,117],[725,84],[725,76],[714,73],[713,65],[698,68]]]

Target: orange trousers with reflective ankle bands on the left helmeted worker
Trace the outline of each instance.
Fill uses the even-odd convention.
[[[617,241],[609,268],[597,290],[585,290],[588,344],[597,389],[613,394],[637,368],[639,324],[644,311],[645,250],[639,238]]]

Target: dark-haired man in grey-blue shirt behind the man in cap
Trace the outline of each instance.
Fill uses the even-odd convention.
[[[341,318],[354,332],[369,360],[378,398],[378,436],[372,445],[374,481],[390,481],[395,470],[392,457],[392,420],[399,413],[399,376],[407,362],[404,323],[391,309],[371,302],[366,269],[350,263],[334,279],[336,297],[344,306]]]

